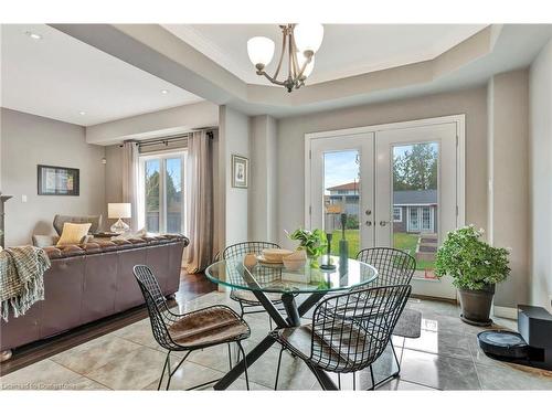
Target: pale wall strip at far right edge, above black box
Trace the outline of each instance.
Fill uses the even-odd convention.
[[[552,311],[552,41],[529,72],[532,305]]]

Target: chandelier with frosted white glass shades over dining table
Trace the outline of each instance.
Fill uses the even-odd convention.
[[[315,67],[315,53],[320,47],[323,38],[321,24],[300,23],[280,25],[282,54],[278,66],[273,76],[265,72],[265,67],[274,56],[274,42],[264,36],[251,38],[247,41],[247,54],[257,70],[257,75],[265,76],[275,85],[284,86],[287,92],[298,89]],[[278,81],[284,56],[287,54],[287,77]]]

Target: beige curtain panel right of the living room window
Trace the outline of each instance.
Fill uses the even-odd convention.
[[[187,248],[188,273],[203,270],[211,263],[213,251],[213,171],[212,142],[206,131],[188,138],[187,166]]]

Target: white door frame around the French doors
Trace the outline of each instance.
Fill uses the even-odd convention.
[[[415,119],[401,123],[371,125],[365,127],[336,129],[319,132],[305,134],[305,227],[310,227],[310,187],[311,187],[311,152],[310,145],[314,139],[330,138],[339,136],[350,136],[358,134],[374,132],[378,140],[379,131],[390,129],[404,129],[421,126],[431,126],[439,124],[456,124],[456,205],[457,205],[457,226],[463,226],[466,223],[466,116],[464,114],[449,115],[436,118]]]

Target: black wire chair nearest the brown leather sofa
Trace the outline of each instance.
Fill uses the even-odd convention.
[[[134,267],[132,273],[148,307],[153,338],[159,346],[168,350],[163,371],[157,386],[158,390],[161,388],[164,371],[167,370],[169,373],[166,388],[166,390],[169,390],[172,375],[187,360],[188,355],[195,350],[227,343],[230,369],[232,369],[231,343],[235,342],[244,361],[246,361],[242,340],[250,337],[251,330],[248,325],[234,310],[227,306],[215,305],[187,314],[174,314],[169,309],[157,278],[149,267],[137,265]],[[171,371],[170,354],[173,351],[187,353]],[[194,385],[188,390],[195,390],[219,380]],[[247,390],[250,390],[247,365],[245,365],[245,383]]]

